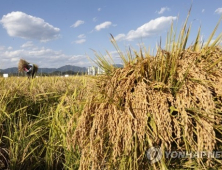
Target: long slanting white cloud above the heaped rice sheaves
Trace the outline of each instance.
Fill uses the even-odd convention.
[[[132,41],[137,38],[145,38],[152,35],[160,34],[165,31],[171,24],[173,20],[176,20],[177,17],[169,16],[169,17],[159,17],[154,20],[151,20],[144,25],[140,26],[136,30],[131,30],[127,35],[118,34],[115,36],[119,41],[120,40],[128,40]],[[116,40],[117,40],[116,39]]]

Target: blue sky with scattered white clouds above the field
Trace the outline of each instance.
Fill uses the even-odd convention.
[[[221,0],[2,0],[0,68],[16,67],[20,58],[39,67],[90,66],[92,49],[120,63],[110,34],[123,52],[139,44],[154,49],[172,21],[182,27],[191,4],[189,44],[200,26],[207,40],[222,15]]]

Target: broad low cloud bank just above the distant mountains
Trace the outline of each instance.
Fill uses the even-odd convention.
[[[89,66],[88,59],[84,55],[66,55],[62,51],[49,48],[19,49],[14,51],[0,51],[1,69],[17,67],[20,58],[30,63],[37,64],[40,68],[58,68],[64,65]],[[39,70],[40,71],[40,70]]]

